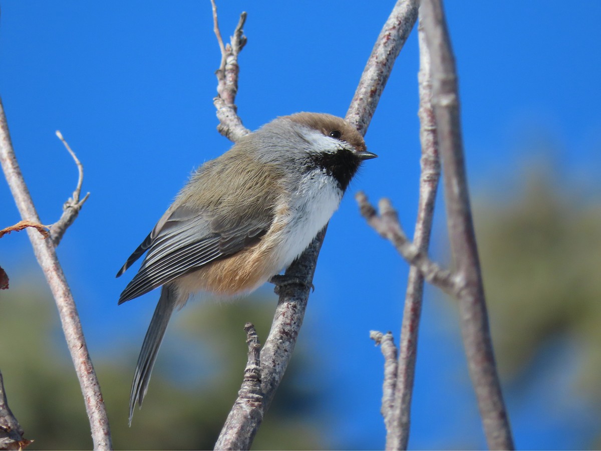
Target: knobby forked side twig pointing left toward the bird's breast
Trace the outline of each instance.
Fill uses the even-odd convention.
[[[397,212],[388,199],[380,199],[379,216],[363,192],[359,191],[355,195],[355,199],[361,209],[361,215],[367,219],[368,224],[382,238],[388,239],[397,249],[398,253],[407,260],[407,263],[418,268],[419,272],[430,283],[451,295],[455,294],[457,282],[453,273],[436,265],[423,250],[407,240],[407,236],[403,232],[403,229],[401,229],[400,222],[398,222]]]

